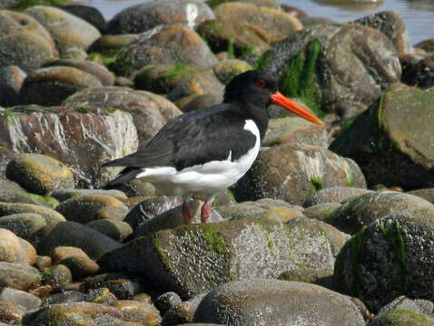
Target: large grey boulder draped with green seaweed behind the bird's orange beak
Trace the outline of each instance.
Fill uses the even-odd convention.
[[[345,119],[366,110],[401,76],[390,39],[358,24],[315,25],[290,34],[261,55],[258,68],[274,73],[285,95]]]

